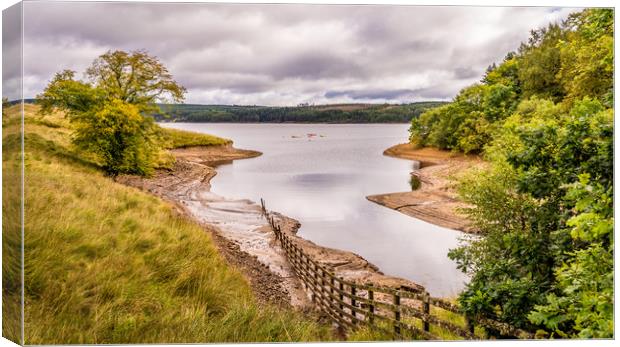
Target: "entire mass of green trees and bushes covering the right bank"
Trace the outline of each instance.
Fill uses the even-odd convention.
[[[458,298],[471,316],[614,336],[613,26],[601,8],[533,30],[479,83],[412,120],[412,143],[490,163],[458,184],[482,237],[449,253],[471,276]]]

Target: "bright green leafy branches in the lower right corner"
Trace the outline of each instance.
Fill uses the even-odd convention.
[[[614,336],[613,191],[582,174],[566,198],[575,215],[567,221],[581,246],[557,270],[557,289],[529,318],[562,337]]]

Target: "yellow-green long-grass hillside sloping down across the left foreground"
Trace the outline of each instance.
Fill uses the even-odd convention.
[[[331,339],[316,319],[258,305],[209,234],[104,176],[72,150],[59,115],[26,111],[25,343]],[[17,107],[8,112],[3,128],[18,122]],[[5,133],[3,146],[18,139]]]

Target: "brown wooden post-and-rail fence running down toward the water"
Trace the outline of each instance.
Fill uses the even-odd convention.
[[[457,305],[432,297],[426,291],[376,286],[337,277],[282,232],[265,208],[263,199],[261,208],[312,301],[343,328],[365,325],[394,339],[480,339],[486,337],[487,329],[500,336],[534,338],[530,332],[492,319],[471,319]]]

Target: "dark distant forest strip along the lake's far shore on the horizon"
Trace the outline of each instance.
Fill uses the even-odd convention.
[[[441,101],[411,104],[338,104],[320,106],[227,106],[162,104],[161,122],[230,123],[407,123],[428,109],[446,104]]]

